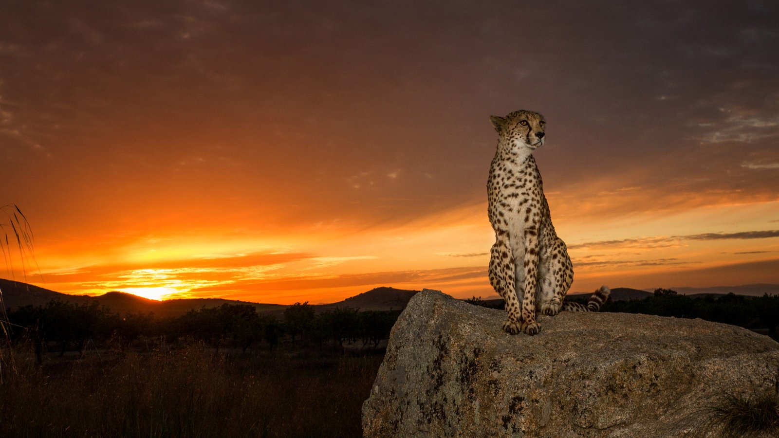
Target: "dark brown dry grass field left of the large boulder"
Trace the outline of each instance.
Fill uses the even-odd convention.
[[[90,359],[91,357],[91,359]],[[381,354],[203,346],[3,370],[0,436],[361,436]]]

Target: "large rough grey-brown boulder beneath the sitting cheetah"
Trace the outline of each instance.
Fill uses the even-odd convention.
[[[439,291],[393,327],[365,436],[693,436],[721,394],[773,393],[779,344],[740,327],[628,313],[505,313]]]

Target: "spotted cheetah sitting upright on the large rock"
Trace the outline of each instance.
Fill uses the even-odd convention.
[[[499,140],[487,182],[488,217],[495,230],[489,280],[506,301],[503,330],[538,334],[539,310],[549,316],[561,309],[597,312],[611,293],[606,286],[590,296],[587,306],[565,301],[573,265],[552,225],[533,157],[533,150],[546,140],[544,116],[521,110],[506,117],[492,115],[490,121]]]

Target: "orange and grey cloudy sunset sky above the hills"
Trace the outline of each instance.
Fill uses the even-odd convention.
[[[777,16],[2,0],[0,205],[34,247],[7,245],[0,274],[280,304],[495,295],[489,115],[527,109],[547,122],[534,156],[572,293],[779,283]]]

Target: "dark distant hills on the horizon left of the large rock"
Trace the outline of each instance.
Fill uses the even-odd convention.
[[[182,298],[156,301],[116,291],[97,296],[69,295],[33,286],[32,284],[4,280],[2,278],[0,278],[0,291],[2,291],[2,305],[5,306],[5,309],[10,310],[19,309],[19,307],[23,306],[45,306],[52,300],[70,302],[76,305],[97,302],[100,306],[108,306],[112,311],[118,313],[153,312],[157,316],[181,316],[192,309],[207,309],[223,304],[249,304],[255,306],[258,312],[272,313],[281,313],[287,308],[287,306],[280,304],[264,304],[223,298]],[[361,310],[400,310],[405,309],[411,297],[417,292],[395,288],[375,288],[360,295],[346,298],[344,301],[316,305],[314,307],[319,312],[336,307],[351,307]]]

